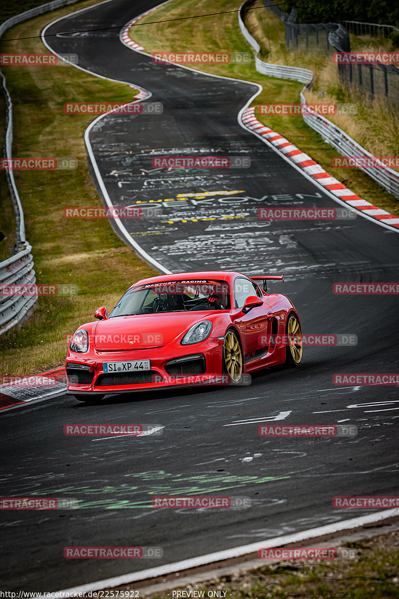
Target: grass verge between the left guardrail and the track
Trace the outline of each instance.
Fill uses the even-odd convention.
[[[96,4],[80,2],[73,10]],[[46,23],[71,7],[36,17],[8,37],[39,35]],[[2,52],[48,53],[40,38],[2,43]],[[21,329],[1,337],[1,374],[22,376],[62,364],[65,335],[93,320],[100,305],[112,307],[133,282],[156,273],[121,241],[108,220],[64,219],[66,206],[102,205],[87,165],[83,134],[93,115],[65,114],[67,101],[132,101],[136,90],[86,74],[74,66],[4,66],[14,105],[13,156],[77,158],[72,171],[14,171],[22,201],[26,238],[33,247],[37,283],[72,283],[74,297],[39,297]],[[2,186],[1,205],[11,205]],[[9,211],[9,210],[8,210]],[[12,235],[12,214],[7,232]],[[5,256],[6,258],[8,256]]]

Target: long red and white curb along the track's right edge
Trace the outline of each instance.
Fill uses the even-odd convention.
[[[276,133],[266,125],[263,125],[255,117],[255,107],[246,108],[242,113],[242,123],[249,131],[255,132],[270,144],[272,144],[276,150],[287,156],[297,167],[301,168],[307,175],[313,177],[330,193],[333,193],[337,198],[346,202],[352,208],[361,211],[363,214],[378,220],[379,222],[385,223],[399,229],[399,217],[394,214],[389,214],[386,210],[374,206],[366,199],[362,199],[356,193],[354,193],[348,187],[345,187],[343,183],[332,177],[327,171],[324,170],[317,162],[315,162],[310,156],[301,152],[294,144],[285,139],[282,135]]]

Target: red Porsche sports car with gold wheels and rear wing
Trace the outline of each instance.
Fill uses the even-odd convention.
[[[80,326],[69,343],[69,395],[107,394],[198,383],[245,384],[249,373],[302,358],[299,316],[269,279],[227,271],[167,274],[127,289],[99,322]],[[263,288],[258,285],[263,281]]]

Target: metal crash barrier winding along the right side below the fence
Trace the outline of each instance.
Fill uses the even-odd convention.
[[[252,48],[254,48],[255,52],[258,54],[258,52],[260,52],[260,46],[249,33],[248,29],[246,29],[242,18],[243,11],[245,11],[245,7],[249,4],[251,4],[251,0],[246,0],[246,2],[244,2],[240,7],[238,13],[239,26],[245,39],[249,44],[251,44]],[[253,40],[255,44],[253,44],[251,40]],[[330,43],[333,44],[333,41],[334,40],[331,39],[330,34]],[[301,81],[301,83],[306,83],[300,93],[300,99],[301,104],[304,104],[304,106],[307,107],[303,92],[312,81],[312,71],[296,66],[275,65],[263,62],[263,60],[260,60],[258,56],[255,56],[255,68],[263,75],[286,79],[296,79],[297,81]],[[345,131],[342,131],[342,129],[340,129],[337,125],[334,125],[333,122],[325,117],[314,113],[309,107],[307,107],[307,110],[303,111],[302,116],[306,124],[318,132],[318,134],[321,135],[328,144],[336,148],[342,156],[356,156],[371,159],[375,158],[372,154],[370,154],[370,152],[367,152],[364,147],[360,146],[360,144],[352,139],[352,137],[346,134]],[[399,198],[399,173],[387,167],[362,168],[361,170],[363,170],[364,173],[366,173],[369,177],[374,179],[374,181],[377,181],[377,183],[385,187],[385,189],[392,193],[396,198]]]

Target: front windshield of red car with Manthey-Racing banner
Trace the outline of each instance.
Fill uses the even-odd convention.
[[[128,289],[109,318],[189,310],[230,310],[229,283],[217,280],[183,280],[138,285]]]

